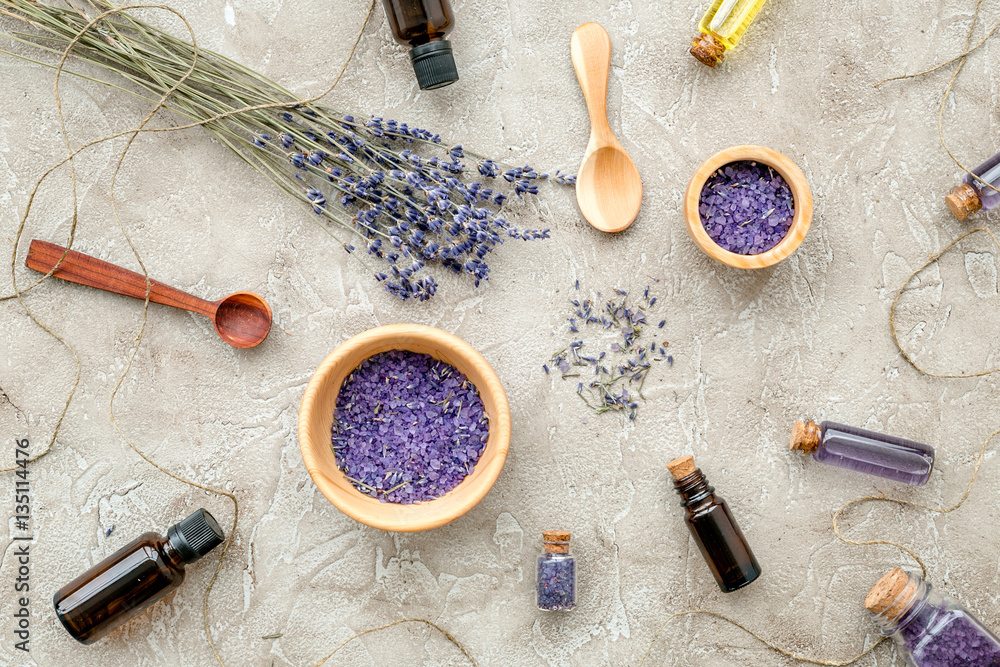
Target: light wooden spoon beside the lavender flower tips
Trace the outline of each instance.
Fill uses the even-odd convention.
[[[590,143],[576,176],[576,201],[583,217],[604,232],[620,232],[639,215],[639,170],[608,125],[611,40],[596,23],[584,23],[570,41],[573,69],[590,114]]]

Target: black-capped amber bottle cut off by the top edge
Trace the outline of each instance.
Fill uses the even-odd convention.
[[[392,35],[410,46],[410,62],[421,90],[458,81],[458,68],[445,36],[455,25],[448,0],[383,0]]]

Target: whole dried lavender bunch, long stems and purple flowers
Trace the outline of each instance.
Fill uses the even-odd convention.
[[[107,0],[93,7],[115,8]],[[0,0],[0,9],[44,33],[13,33],[13,39],[53,53],[91,21],[78,10],[32,0]],[[548,229],[518,229],[500,214],[510,195],[536,195],[538,182],[550,178],[530,165],[502,165],[406,123],[297,104],[278,84],[206,49],[198,49],[184,79],[195,61],[191,44],[126,12],[83,32],[73,55],[125,78],[142,97],[159,98],[176,86],[167,107],[193,121],[282,105],[203,127],[303,206],[353,234],[344,248],[375,258],[376,280],[401,299],[433,296],[435,268],[468,274],[478,286],[489,277],[488,256],[506,238],[549,237]],[[561,172],[552,180],[575,183]]]

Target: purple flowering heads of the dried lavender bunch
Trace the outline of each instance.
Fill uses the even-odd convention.
[[[489,279],[487,258],[505,239],[549,238],[548,229],[518,229],[498,215],[507,196],[484,182],[506,181],[518,198],[536,195],[537,182],[548,175],[530,165],[502,170],[481,158],[475,164],[484,181],[470,181],[463,178],[468,163],[462,146],[445,146],[439,135],[406,123],[380,116],[362,123],[322,107],[266,118],[278,139],[258,132],[242,148],[262,164],[284,159],[287,166],[277,173],[288,177],[286,190],[301,190],[316,214],[361,236],[368,255],[385,264],[376,280],[401,299],[434,295],[431,266],[466,274],[478,287]]]

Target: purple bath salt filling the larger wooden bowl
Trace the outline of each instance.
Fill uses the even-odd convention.
[[[426,354],[393,350],[344,381],[332,449],[356,489],[382,502],[444,495],[472,472],[489,433],[476,386]]]

